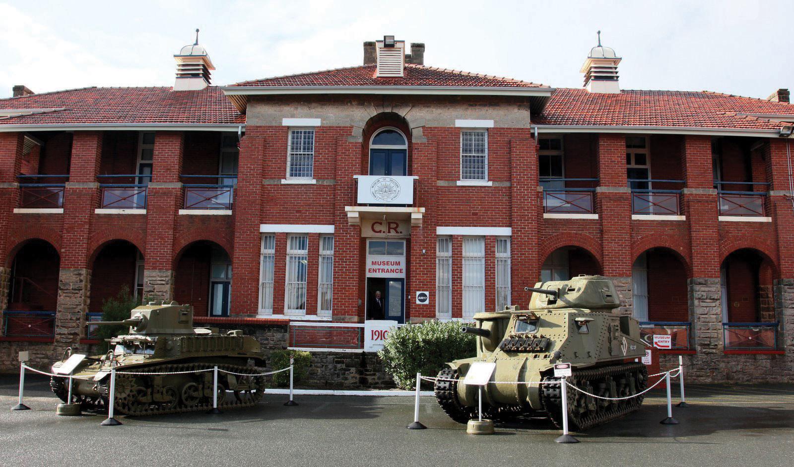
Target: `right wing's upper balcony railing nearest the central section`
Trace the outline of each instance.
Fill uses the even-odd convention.
[[[549,214],[592,214],[598,178],[541,177],[543,212]]]

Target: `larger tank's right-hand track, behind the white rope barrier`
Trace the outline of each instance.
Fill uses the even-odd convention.
[[[559,381],[554,377],[544,377],[544,381]],[[574,369],[569,377],[572,385],[598,396],[630,396],[642,392],[648,386],[648,370],[642,363],[602,366],[591,369]],[[561,383],[542,385],[541,400],[549,419],[562,427]],[[642,405],[644,396],[627,400],[600,400],[586,396],[576,389],[568,389],[568,423],[572,431],[582,431],[610,420],[618,419]]]

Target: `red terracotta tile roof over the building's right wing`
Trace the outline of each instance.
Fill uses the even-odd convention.
[[[786,115],[794,105],[710,91],[623,90],[596,94],[557,88],[533,123],[585,126],[663,126],[777,129],[781,124],[758,115]]]

